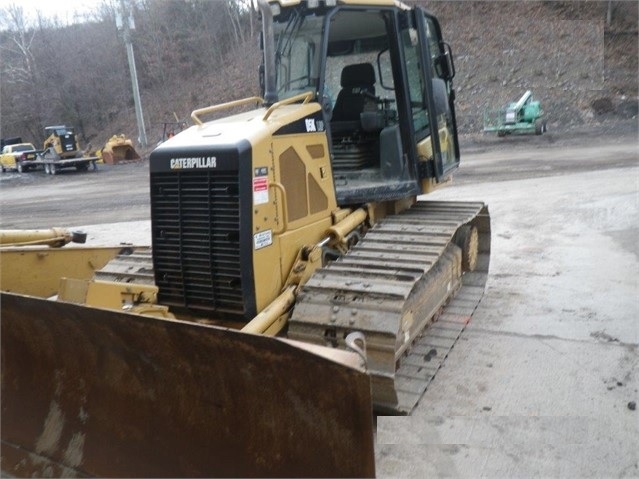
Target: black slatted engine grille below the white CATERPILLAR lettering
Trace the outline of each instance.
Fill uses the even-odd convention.
[[[169,306],[244,315],[237,171],[151,173],[153,263]]]

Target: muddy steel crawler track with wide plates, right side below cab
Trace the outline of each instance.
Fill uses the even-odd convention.
[[[416,319],[423,329],[402,344],[398,318],[405,303],[422,294],[423,288],[429,291],[428,275],[436,278],[432,270],[449,267],[448,245],[458,228],[469,223],[479,233],[477,268],[462,275],[458,288],[433,293],[442,296],[432,300],[434,314]],[[345,347],[342,334],[363,332],[369,364],[377,363],[370,369],[376,409],[410,413],[479,304],[489,260],[490,217],[483,203],[417,202],[375,225],[344,257],[311,277],[298,296],[289,337]],[[326,338],[331,329],[339,331],[335,340]],[[395,404],[393,394],[384,391],[389,381],[397,396]]]

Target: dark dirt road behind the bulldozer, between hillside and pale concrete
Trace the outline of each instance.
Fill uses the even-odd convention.
[[[636,129],[636,125],[635,125]],[[637,162],[632,125],[599,135],[549,133],[541,137],[469,137],[462,143],[462,167],[455,185],[511,181],[626,168]],[[601,140],[606,141],[601,144]],[[44,228],[149,219],[147,162],[100,165],[97,172],[62,170],[0,174],[0,226]],[[476,199],[482,199],[476,198]]]

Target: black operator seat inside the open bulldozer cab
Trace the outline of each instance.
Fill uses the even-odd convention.
[[[333,107],[333,117],[331,125],[342,127],[347,125],[343,122],[360,121],[360,113],[368,109],[374,101],[367,97],[364,93],[375,95],[375,70],[370,63],[356,63],[354,65],[346,65],[342,70],[340,80],[342,89],[337,95],[335,106]],[[341,125],[340,125],[341,124]]]

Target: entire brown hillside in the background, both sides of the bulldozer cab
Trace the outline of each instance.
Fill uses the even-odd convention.
[[[161,139],[164,122],[189,122],[196,108],[259,94],[256,15],[238,10],[229,17],[242,1],[250,3],[138,3],[134,49],[149,142],[141,153]],[[460,133],[480,134],[485,110],[504,107],[526,90],[541,101],[550,131],[610,128],[619,120],[636,125],[638,2],[411,3],[440,19],[452,47]],[[98,147],[113,134],[136,137],[128,66],[112,12],[92,23],[26,33],[0,31],[5,65],[13,65],[6,60],[15,50],[17,66],[40,68],[3,69],[2,136],[40,143],[44,125],[68,123],[83,145]],[[31,50],[24,55],[16,45]]]

